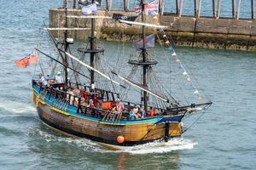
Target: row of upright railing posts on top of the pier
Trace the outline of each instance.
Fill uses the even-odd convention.
[[[81,0],[62,0],[64,8],[67,3],[68,8],[81,8]],[[148,0],[151,2],[153,0]],[[233,18],[255,19],[255,0],[157,0],[159,1],[160,15],[177,15],[193,17],[212,18]],[[138,0],[102,0],[101,6],[108,11],[123,10],[134,11]],[[147,1],[146,1],[147,2]]]

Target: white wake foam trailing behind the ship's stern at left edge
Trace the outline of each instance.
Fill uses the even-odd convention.
[[[20,103],[16,101],[0,101],[0,110],[9,111],[11,113],[35,113],[36,109],[27,103]]]

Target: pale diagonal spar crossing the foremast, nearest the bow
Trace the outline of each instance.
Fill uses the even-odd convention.
[[[144,88],[142,87],[142,85],[138,84],[137,82],[132,82],[131,80],[122,77],[121,75],[119,75],[118,73],[111,71],[114,75],[116,75],[117,77],[119,77],[121,80],[123,80],[124,82],[127,82],[128,84],[130,84],[131,86],[135,87],[135,88],[139,88],[141,90],[143,90],[144,92],[147,92],[148,94],[153,95],[154,97],[161,99],[167,103],[169,103],[169,99],[166,99],[165,97],[159,95],[159,94],[155,94],[154,92],[150,91],[148,88]]]

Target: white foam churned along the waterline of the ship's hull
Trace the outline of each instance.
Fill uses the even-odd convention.
[[[197,144],[190,139],[170,139],[168,142],[152,142],[148,144],[140,144],[137,146],[122,147],[120,150],[107,150],[102,148],[102,145],[90,140],[75,137],[63,137],[57,136],[54,133],[48,133],[38,129],[39,136],[42,136],[46,142],[64,142],[79,147],[86,151],[97,151],[97,152],[125,152],[130,154],[150,154],[150,153],[166,153],[172,152],[173,150],[191,150]]]

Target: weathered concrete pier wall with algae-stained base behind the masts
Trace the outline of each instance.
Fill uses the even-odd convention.
[[[146,17],[149,23],[160,23],[160,25],[168,26],[166,35],[180,46],[200,47],[200,48],[224,48],[236,50],[256,51],[256,20],[237,20],[235,19],[219,19],[220,0],[216,4],[216,18],[203,18],[200,16],[200,0],[195,8],[195,17],[181,16],[180,8],[182,0],[177,0],[179,6],[177,15],[157,15],[154,17],[148,15]],[[124,11],[108,11],[113,13],[135,15],[134,12]],[[49,10],[49,26],[63,27],[63,9]],[[81,15],[80,9],[68,9],[69,15]],[[105,11],[98,11],[98,15],[107,15]],[[154,17],[154,18],[153,18]],[[137,19],[140,20],[139,18]],[[87,19],[68,19],[68,26],[71,27],[90,27],[90,20]],[[128,26],[120,24],[113,20],[97,20],[96,31],[98,38],[109,41],[133,41],[137,40],[141,33],[139,26]],[[122,32],[125,33],[121,35]],[[155,33],[156,30],[148,29],[148,33]],[[55,37],[61,37],[60,31],[54,31]],[[70,31],[69,35],[77,39],[88,38],[89,31]]]

